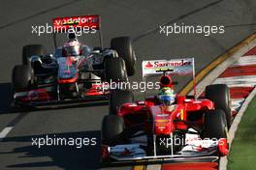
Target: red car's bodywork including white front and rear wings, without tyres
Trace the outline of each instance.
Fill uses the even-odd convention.
[[[155,75],[158,74],[159,71],[163,72],[163,75],[159,78],[160,88],[170,87],[173,89],[176,84],[176,82],[172,81],[171,75],[166,73],[167,71],[171,71],[176,74],[187,74],[191,72],[188,68],[182,69],[180,67],[178,70],[175,70],[176,68],[168,67],[171,64],[173,66],[173,63],[176,62],[175,60],[174,62],[173,60],[171,62],[161,62],[164,63],[164,66],[167,66],[167,68],[148,70],[148,68],[153,67],[150,64],[150,61],[143,62],[144,76]],[[182,64],[183,60],[179,63]],[[192,63],[194,63],[193,60]],[[193,78],[195,78],[194,69],[192,72]],[[181,159],[187,160],[190,156],[193,158],[197,157],[199,159],[208,156],[215,156],[214,159],[216,159],[217,153],[219,154],[218,156],[227,156],[229,150],[226,138],[219,139],[215,148],[212,144],[204,146],[204,142],[200,143],[202,140],[199,140],[201,139],[199,136],[203,134],[204,137],[205,113],[209,113],[209,110],[211,111],[215,108],[213,101],[209,99],[195,99],[195,85],[196,83],[194,80],[194,97],[176,95],[176,101],[171,105],[165,105],[157,96],[154,96],[145,98],[144,100],[124,103],[120,107],[117,107],[117,114],[123,118],[125,124],[125,129],[120,134],[120,137],[127,134],[127,137],[130,139],[130,136],[132,136],[131,143],[139,145],[141,149],[144,149],[142,146],[145,144],[145,156],[137,156],[136,154],[141,152],[139,151],[138,153],[135,153],[134,156],[131,156],[131,158],[127,158],[125,156],[119,156],[116,158],[116,153],[120,148],[123,148],[123,153],[126,153],[126,145],[121,143],[121,145],[116,145],[118,150],[114,150],[116,149],[115,147],[108,147],[106,145],[102,146],[101,156],[103,160],[106,159],[106,157],[107,159],[112,157],[116,160],[134,160],[137,158],[142,160],[146,159],[146,162],[149,162],[147,159],[161,158],[161,160],[164,160],[164,157],[170,158],[170,156],[172,157],[170,159],[175,160],[177,158],[178,161]],[[140,138],[140,135],[146,136],[146,140],[144,137]],[[186,140],[185,145],[180,145],[179,143],[177,146],[173,143],[173,139],[176,141],[176,139],[181,138]],[[164,144],[161,146],[162,142],[165,141],[162,139],[166,139],[166,141],[171,139],[171,153],[168,153],[167,145]],[[179,147],[183,148],[180,149]]]

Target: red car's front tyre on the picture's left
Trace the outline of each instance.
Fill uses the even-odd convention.
[[[114,145],[121,142],[121,132],[125,128],[123,118],[117,115],[107,115],[102,121],[102,142],[105,145]]]

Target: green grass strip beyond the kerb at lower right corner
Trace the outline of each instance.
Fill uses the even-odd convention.
[[[256,169],[256,97],[241,118],[228,161],[228,170],[247,169]]]

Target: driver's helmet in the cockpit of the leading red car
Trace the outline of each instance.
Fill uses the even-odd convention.
[[[171,87],[162,87],[157,97],[164,105],[171,105],[176,101],[175,91]]]

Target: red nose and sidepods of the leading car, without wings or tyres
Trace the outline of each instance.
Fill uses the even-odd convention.
[[[120,107],[118,114],[124,118],[128,127],[140,121],[147,124],[145,128],[152,129],[154,134],[168,135],[176,129],[186,130],[189,122],[192,122],[189,120],[193,117],[192,114],[212,109],[214,109],[214,104],[208,99],[196,100],[177,96],[176,104],[164,106],[159,103],[158,99],[152,97],[145,101],[125,103]],[[203,117],[193,121],[195,126],[203,125]]]

